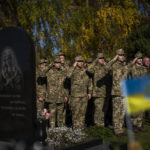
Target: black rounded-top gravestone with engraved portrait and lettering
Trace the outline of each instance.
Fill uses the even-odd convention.
[[[35,51],[22,29],[0,31],[0,140],[35,135]]]

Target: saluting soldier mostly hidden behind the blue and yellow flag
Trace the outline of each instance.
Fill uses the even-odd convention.
[[[137,52],[135,55],[136,62],[130,69],[131,78],[141,77],[147,74],[146,67],[143,66],[142,53]],[[131,121],[135,129],[142,131],[144,112],[131,116]]]

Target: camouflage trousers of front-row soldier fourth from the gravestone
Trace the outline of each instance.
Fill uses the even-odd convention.
[[[94,98],[95,112],[94,112],[94,123],[99,126],[104,126],[104,101],[105,98],[96,97]]]

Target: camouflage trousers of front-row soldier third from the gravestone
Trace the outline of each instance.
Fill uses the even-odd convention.
[[[85,127],[85,114],[87,109],[87,97],[71,97],[71,111],[73,128]]]

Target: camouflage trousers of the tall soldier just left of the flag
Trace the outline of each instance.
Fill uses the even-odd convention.
[[[124,103],[123,98],[121,96],[115,96],[112,98],[112,107],[113,107],[113,127],[115,134],[123,133],[123,125],[124,125]]]

